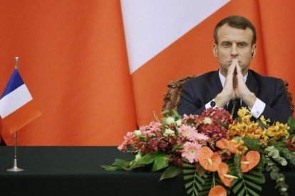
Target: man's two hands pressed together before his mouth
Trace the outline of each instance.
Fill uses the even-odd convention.
[[[217,107],[224,107],[231,99],[242,99],[247,106],[252,109],[257,97],[252,93],[242,75],[242,69],[237,58],[232,60],[232,64],[227,70],[227,77],[222,92],[217,94],[215,102]]]

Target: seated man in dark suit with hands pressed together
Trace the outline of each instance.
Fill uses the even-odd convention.
[[[264,115],[271,121],[286,122],[292,111],[284,82],[249,70],[257,51],[256,39],[256,30],[247,18],[229,16],[217,23],[213,54],[219,70],[185,82],[177,111],[202,114],[209,107],[219,107],[231,112],[242,104],[256,119]]]

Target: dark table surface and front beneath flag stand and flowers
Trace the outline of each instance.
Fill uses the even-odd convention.
[[[132,158],[115,147],[18,147],[20,173],[9,173],[14,148],[0,147],[0,195],[186,195],[182,176],[159,182],[161,173],[107,171],[115,158]],[[287,170],[289,195],[295,171]],[[262,195],[279,195],[266,176]]]

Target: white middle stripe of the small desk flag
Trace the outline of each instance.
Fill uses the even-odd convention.
[[[30,102],[33,99],[29,89],[26,85],[21,85],[13,92],[6,94],[6,96],[0,99],[0,116],[4,119],[6,116],[16,111],[24,104]]]

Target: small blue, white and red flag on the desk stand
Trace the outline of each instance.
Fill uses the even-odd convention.
[[[15,69],[0,99],[0,116],[4,125],[14,134],[39,115],[41,113],[34,105],[29,89]]]

